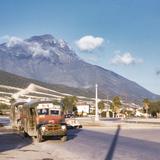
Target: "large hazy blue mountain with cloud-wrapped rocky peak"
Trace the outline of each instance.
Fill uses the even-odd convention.
[[[94,89],[108,96],[127,100],[157,99],[133,81],[112,71],[81,60],[64,40],[52,35],[33,36],[22,40],[13,37],[0,44],[0,69],[50,84]]]

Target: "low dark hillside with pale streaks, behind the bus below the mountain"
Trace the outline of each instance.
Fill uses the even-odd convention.
[[[37,80],[24,78],[0,70],[0,95],[1,97],[11,97],[17,92],[24,95],[37,95],[38,97],[56,97],[65,95],[75,95],[83,97],[94,97],[94,92],[90,90],[67,87],[64,85],[52,85]],[[24,93],[26,92],[26,93]],[[22,95],[20,95],[22,96]],[[100,97],[104,95],[100,93]]]

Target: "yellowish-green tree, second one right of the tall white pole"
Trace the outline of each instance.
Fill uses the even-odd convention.
[[[113,113],[114,113],[114,117],[117,113],[119,113],[119,109],[121,106],[121,101],[120,101],[120,97],[115,96],[113,97],[112,103],[110,104],[110,108],[112,109]]]

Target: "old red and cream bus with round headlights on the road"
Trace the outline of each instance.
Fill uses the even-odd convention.
[[[61,105],[49,100],[32,100],[11,107],[11,121],[24,135],[36,137],[38,142],[48,136],[67,140],[67,127]]]

